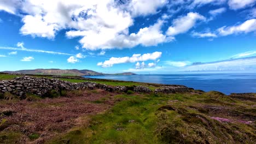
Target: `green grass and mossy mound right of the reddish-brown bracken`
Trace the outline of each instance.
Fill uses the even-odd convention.
[[[213,97],[212,92],[208,94]],[[205,95],[118,95],[115,98],[125,100],[106,113],[90,117],[89,127],[73,128],[49,143],[255,142],[254,128],[251,125],[222,123],[205,114],[207,111],[199,105],[207,105],[208,102],[199,104],[197,101],[209,99],[209,95],[207,93]],[[218,94],[214,97],[219,98]],[[229,105],[229,103],[222,101],[221,104],[212,103],[212,105]],[[189,108],[195,105],[200,109]]]

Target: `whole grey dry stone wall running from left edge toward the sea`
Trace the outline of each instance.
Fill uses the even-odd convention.
[[[36,95],[43,96],[55,90],[60,92],[62,90],[74,90],[74,89],[95,89],[100,88],[105,91],[118,91],[126,92],[130,87],[117,86],[111,87],[94,82],[80,82],[80,83],[71,83],[68,81],[62,81],[59,79],[46,79],[44,77],[30,77],[30,76],[21,76],[16,77],[13,80],[3,80],[0,81],[0,92],[9,92],[20,97],[26,97],[26,93],[30,92]],[[149,93],[152,92],[148,87],[137,86],[132,89],[135,92]],[[155,93],[174,93],[174,92],[188,92],[187,87],[163,87],[161,89],[156,89]]]

